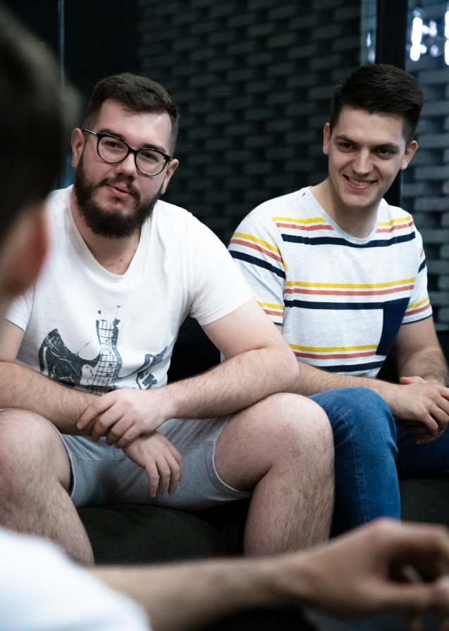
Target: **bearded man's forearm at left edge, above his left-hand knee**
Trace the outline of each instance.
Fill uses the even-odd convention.
[[[0,406],[41,414],[61,432],[80,433],[75,424],[85,408],[96,399],[65,387],[16,363],[0,362]]]

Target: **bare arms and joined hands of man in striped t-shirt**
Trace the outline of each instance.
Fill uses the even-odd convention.
[[[443,385],[448,379],[447,365],[432,318],[402,325],[394,351],[400,384],[326,373],[300,363],[297,392],[308,396],[337,388],[369,388],[382,396],[400,425],[423,433],[419,442],[434,440],[449,422],[449,389]]]

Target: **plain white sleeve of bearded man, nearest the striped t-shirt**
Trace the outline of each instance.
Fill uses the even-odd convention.
[[[223,318],[253,297],[233,259],[208,227],[195,220],[195,292],[190,315],[204,326]]]

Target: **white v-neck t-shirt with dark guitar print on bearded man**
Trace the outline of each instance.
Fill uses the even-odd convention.
[[[52,194],[50,255],[7,315],[25,331],[17,362],[94,394],[160,387],[187,314],[206,325],[252,293],[219,239],[164,201],[142,227],[126,273],[108,272],[73,221],[70,191]]]

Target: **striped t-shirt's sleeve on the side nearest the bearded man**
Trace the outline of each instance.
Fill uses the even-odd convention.
[[[277,325],[283,324],[287,274],[282,244],[271,217],[255,209],[235,230],[228,248],[259,305]]]

